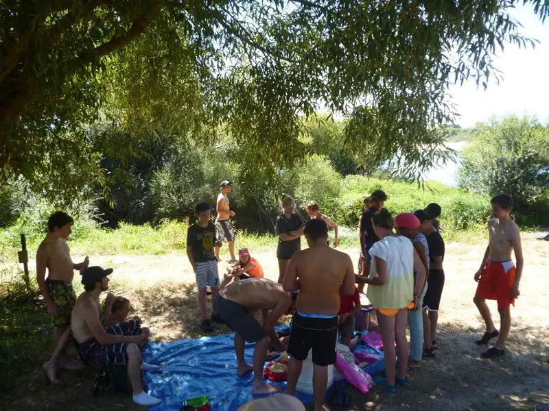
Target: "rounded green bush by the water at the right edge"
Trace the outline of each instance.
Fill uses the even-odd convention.
[[[548,222],[548,127],[528,117],[493,119],[476,128],[462,155],[461,187],[488,195],[506,192],[518,210],[537,212]]]

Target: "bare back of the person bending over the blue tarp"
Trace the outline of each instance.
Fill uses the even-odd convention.
[[[220,290],[221,297],[251,309],[271,310],[287,293],[282,286],[266,278],[249,278],[233,282]]]

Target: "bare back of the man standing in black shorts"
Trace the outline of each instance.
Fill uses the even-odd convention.
[[[346,277],[354,286],[351,258],[328,246],[311,247],[294,254],[289,267],[293,271],[292,266],[299,281],[296,310],[309,314],[338,314],[340,288]]]

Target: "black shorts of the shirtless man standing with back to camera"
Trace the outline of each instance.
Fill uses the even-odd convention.
[[[336,362],[338,342],[338,316],[333,318],[311,318],[299,312],[294,313],[290,331],[288,353],[303,361],[313,350],[313,363],[328,366]]]

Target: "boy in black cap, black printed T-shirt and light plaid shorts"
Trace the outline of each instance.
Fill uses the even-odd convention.
[[[198,309],[200,310],[200,329],[211,332],[213,328],[206,314],[206,286],[211,288],[211,300],[219,291],[218,261],[215,259],[215,225],[210,221],[209,203],[198,203],[194,209],[196,223],[187,231],[187,257],[196,275],[198,287]],[[221,322],[220,317],[212,312],[211,319]]]

